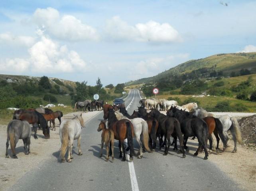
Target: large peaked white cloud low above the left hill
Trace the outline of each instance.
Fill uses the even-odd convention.
[[[42,36],[28,50],[27,59],[14,58],[0,61],[0,72],[14,73],[71,73],[88,71],[89,67],[74,50],[69,51],[67,46],[59,46],[51,39]]]

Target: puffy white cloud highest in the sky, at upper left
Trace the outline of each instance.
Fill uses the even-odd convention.
[[[32,20],[38,27],[45,29],[46,33],[54,35],[59,39],[71,41],[97,41],[99,39],[95,28],[82,23],[73,15],[60,16],[58,10],[54,8],[37,8]]]

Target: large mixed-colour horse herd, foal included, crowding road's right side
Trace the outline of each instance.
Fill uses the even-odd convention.
[[[227,131],[230,130],[234,140],[234,150],[236,152],[236,141],[242,144],[242,137],[239,130],[239,124],[234,117],[228,115],[216,118],[213,114],[202,108],[198,108],[197,103],[189,103],[183,106],[177,106],[177,101],[171,100],[150,100],[142,99],[138,111],[129,115],[124,106],[113,107],[105,104],[103,106],[104,120],[100,122],[98,131],[102,132],[102,146],[100,156],[102,156],[103,144],[106,145],[106,159],[109,159],[109,154],[112,153],[112,141],[118,140],[119,157],[122,161],[126,160],[124,154],[124,139],[128,140],[128,148],[130,150],[130,160],[133,156],[142,158],[142,150],[153,152],[156,149],[156,141],[159,139],[159,149],[165,146],[163,155],[167,155],[169,147],[174,144],[173,150],[178,150],[177,139],[179,139],[179,151],[182,153],[182,158],[185,158],[185,150],[188,152],[187,140],[189,137],[197,137],[198,149],[194,153],[195,156],[204,150],[205,157],[208,159],[208,153],[212,152],[215,147],[212,133],[217,139],[216,151],[219,149],[219,141],[223,142],[223,151],[228,146]],[[152,106],[151,111],[149,111]],[[166,110],[166,115],[159,110]],[[108,120],[108,131],[106,129],[106,120]],[[108,132],[108,133],[106,133]],[[114,135],[114,137],[113,137]],[[170,137],[173,137],[171,143]],[[136,138],[140,149],[137,154],[134,153],[132,138]],[[207,142],[209,140],[209,152],[207,150]],[[184,150],[185,149],[185,150]],[[110,153],[108,153],[110,151]],[[113,158],[113,155],[112,155]]]

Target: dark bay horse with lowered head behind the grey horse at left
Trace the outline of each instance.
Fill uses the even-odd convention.
[[[42,114],[38,113],[37,111],[24,111],[19,115],[19,120],[26,120],[28,123],[33,125],[33,130],[35,131],[34,138],[37,138],[36,131],[38,124],[40,124],[40,127],[43,129],[43,135],[45,136],[45,139],[50,139],[50,130],[47,124],[47,121],[42,116]]]

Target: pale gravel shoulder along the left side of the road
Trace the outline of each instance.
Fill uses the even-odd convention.
[[[80,114],[81,112],[69,113],[63,116],[64,118],[71,118],[73,114]],[[85,122],[90,120],[93,116],[98,114],[98,111],[94,112],[82,112]],[[61,147],[59,138],[59,120],[55,120],[56,131],[50,130],[50,139],[44,139],[41,130],[37,130],[38,139],[33,138],[33,132],[31,136],[31,153],[29,155],[24,154],[24,145],[22,139],[19,140],[16,146],[16,152],[18,159],[5,158],[6,152],[6,130],[7,125],[0,125],[0,191],[8,189],[8,187],[14,185],[14,183],[26,172],[34,168],[38,168],[39,164],[49,158],[57,158],[53,156],[54,152],[57,152]],[[86,131],[86,128],[83,129]],[[76,144],[76,142],[75,142]],[[9,146],[9,155],[12,156],[12,151]]]

